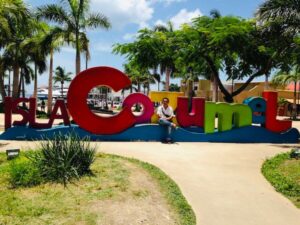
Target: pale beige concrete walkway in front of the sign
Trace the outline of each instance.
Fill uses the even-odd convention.
[[[1,143],[7,141],[1,141]],[[181,188],[200,225],[299,225],[300,210],[260,172],[267,157],[291,145],[144,142],[97,143],[101,152],[134,157],[166,172]],[[0,147],[32,147],[10,142]]]

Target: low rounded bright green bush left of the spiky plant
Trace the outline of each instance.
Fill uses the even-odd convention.
[[[30,187],[42,182],[39,169],[28,159],[14,159],[9,165],[9,181],[12,187]]]

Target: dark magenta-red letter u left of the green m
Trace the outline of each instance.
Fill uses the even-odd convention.
[[[192,98],[192,111],[189,113],[188,98],[178,97],[177,98],[177,122],[181,127],[198,126],[203,127],[204,125],[204,98]]]

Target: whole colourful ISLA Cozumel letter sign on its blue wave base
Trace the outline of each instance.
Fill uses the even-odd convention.
[[[57,100],[47,123],[36,122],[36,99],[5,99],[5,132],[0,139],[40,140],[51,138],[60,132],[76,132],[81,137],[103,141],[161,141],[166,133],[155,117],[153,102],[163,97],[170,99],[176,109],[179,129],[172,132],[174,141],[181,142],[236,142],[236,143],[296,143],[299,132],[291,121],[277,120],[277,92],[264,92],[263,97],[251,97],[244,104],[206,102],[204,98],[192,99],[188,110],[188,98],[178,93],[159,92],[150,98],[142,93],[130,94],[123,102],[122,110],[111,117],[94,114],[86,98],[96,86],[108,86],[120,91],[131,84],[121,71],[110,67],[94,67],[79,73],[71,82],[67,106]],[[29,104],[23,110],[18,104]],[[135,116],[131,108],[143,105],[143,112]],[[60,114],[58,112],[60,111]],[[12,114],[22,119],[12,121]],[[76,125],[70,123],[70,116]],[[215,121],[218,118],[217,129]],[[55,119],[63,119],[64,125],[53,126]]]

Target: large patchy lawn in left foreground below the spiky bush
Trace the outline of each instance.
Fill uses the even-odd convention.
[[[196,224],[178,186],[138,160],[100,154],[93,175],[67,188],[11,188],[9,169],[0,154],[0,224]]]

